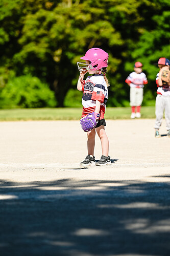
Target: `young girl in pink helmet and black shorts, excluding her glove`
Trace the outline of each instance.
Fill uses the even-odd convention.
[[[98,124],[95,128],[87,132],[87,150],[88,156],[80,165],[111,165],[109,154],[109,140],[105,131],[105,108],[108,99],[109,82],[106,78],[106,71],[108,66],[108,53],[100,48],[89,49],[85,56],[81,59],[85,62],[77,62],[80,76],[77,83],[77,89],[83,91],[82,117],[89,113],[100,113]],[[84,80],[84,75],[89,73],[90,76]],[[102,157],[95,163],[94,145],[95,133],[98,134],[102,145]]]

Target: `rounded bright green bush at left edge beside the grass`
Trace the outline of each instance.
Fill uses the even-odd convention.
[[[55,107],[55,94],[46,83],[31,75],[13,77],[1,89],[0,108]]]

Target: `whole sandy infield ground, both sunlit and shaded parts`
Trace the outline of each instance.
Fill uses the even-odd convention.
[[[112,165],[89,168],[79,121],[1,122],[0,255],[169,256],[170,138],[154,122],[107,120]]]

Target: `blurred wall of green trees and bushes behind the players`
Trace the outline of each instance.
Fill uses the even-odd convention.
[[[77,61],[92,47],[109,53],[107,106],[129,106],[135,61],[149,81],[142,104],[153,106],[169,20],[169,0],[1,0],[0,108],[80,107]]]

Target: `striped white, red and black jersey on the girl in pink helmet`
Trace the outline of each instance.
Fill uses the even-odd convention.
[[[82,81],[82,117],[95,111],[96,100],[101,101],[100,119],[104,118],[106,101],[108,99],[107,84],[103,74],[93,74]]]

